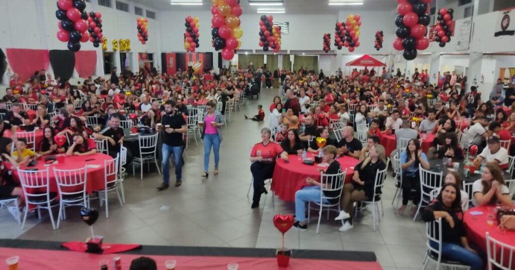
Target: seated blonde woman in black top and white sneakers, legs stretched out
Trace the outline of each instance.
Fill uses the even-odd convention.
[[[344,186],[344,193],[340,200],[340,214],[334,220],[343,220],[344,224],[339,231],[348,231],[353,228],[352,209],[354,202],[368,201],[375,193],[375,177],[378,171],[386,168],[385,148],[382,145],[374,145],[368,151],[368,157],[354,167],[352,183]]]

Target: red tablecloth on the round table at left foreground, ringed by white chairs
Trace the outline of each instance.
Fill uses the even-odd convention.
[[[93,159],[93,160],[90,160]],[[104,161],[113,159],[111,156],[106,154],[94,154],[89,156],[67,156],[65,157],[64,164],[52,164],[45,166],[45,159],[42,157],[38,160],[38,164],[35,167],[38,170],[44,170],[49,167],[48,178],[50,180],[50,192],[58,192],[56,178],[54,176],[54,168],[56,169],[79,169],[84,168],[86,165],[100,165],[98,168],[88,167],[87,178],[86,178],[86,191],[91,194],[95,190],[101,190],[105,187],[104,177]],[[88,161],[86,161],[88,160]],[[21,169],[27,169],[26,164],[21,166]],[[14,179],[19,181],[18,171],[13,171]]]

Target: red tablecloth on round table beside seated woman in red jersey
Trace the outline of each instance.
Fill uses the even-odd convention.
[[[308,154],[308,157],[313,158],[313,156],[313,154]],[[341,170],[347,169],[345,183],[349,183],[354,174],[354,166],[359,163],[359,160],[344,156],[338,157],[338,162],[341,165]],[[307,177],[320,178],[320,173],[317,171],[319,168],[326,169],[327,167],[319,167],[317,164],[313,166],[305,165],[302,160],[298,159],[297,155],[289,155],[289,163],[278,159],[273,170],[271,189],[279,199],[294,202],[295,192],[306,186]]]

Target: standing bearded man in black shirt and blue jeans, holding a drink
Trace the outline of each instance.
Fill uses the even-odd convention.
[[[182,184],[182,150],[184,148],[184,141],[182,140],[183,133],[187,132],[187,125],[184,117],[175,109],[176,103],[173,100],[168,100],[164,104],[165,115],[161,117],[161,124],[157,127],[159,131],[163,131],[163,148],[162,148],[162,165],[163,165],[163,184],[157,189],[159,191],[168,188],[170,181],[170,156],[174,154],[175,160],[175,176],[177,178],[175,186],[178,187]]]

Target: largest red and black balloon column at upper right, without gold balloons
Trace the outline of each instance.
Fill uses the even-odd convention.
[[[406,60],[417,58],[417,50],[425,50],[429,47],[427,25],[431,17],[427,14],[430,10],[431,0],[397,0],[399,15],[395,19],[397,25],[397,39],[393,41],[393,48],[404,50]]]

